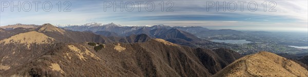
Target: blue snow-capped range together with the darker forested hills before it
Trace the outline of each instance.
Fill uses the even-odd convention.
[[[170,27],[168,25],[153,25],[153,26],[133,26],[127,27],[119,24],[109,23],[87,23],[84,25],[70,25],[61,27],[63,29],[72,31],[91,31],[95,34],[103,36],[122,36],[146,34],[151,38],[161,38],[165,40],[185,40],[185,41],[200,41],[200,39],[193,35],[209,29],[202,27]],[[174,41],[173,43],[178,43]],[[188,42],[185,42],[188,43]]]

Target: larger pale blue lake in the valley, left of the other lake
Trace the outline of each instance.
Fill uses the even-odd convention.
[[[231,43],[231,44],[244,44],[244,43],[251,43],[251,41],[246,41],[246,40],[210,40],[213,42],[220,42],[220,43]]]

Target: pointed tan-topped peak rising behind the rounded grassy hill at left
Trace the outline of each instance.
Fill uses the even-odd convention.
[[[64,34],[65,31],[53,26],[50,23],[45,23],[40,29],[38,29],[38,32],[59,32],[61,34]]]

